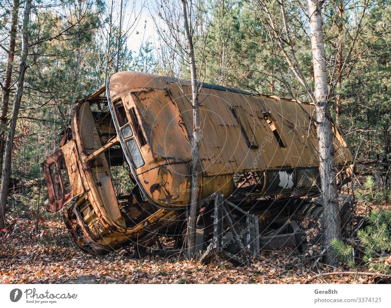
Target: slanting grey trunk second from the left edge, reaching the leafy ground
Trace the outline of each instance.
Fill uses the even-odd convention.
[[[11,158],[12,158],[12,144],[14,140],[16,121],[18,119],[19,107],[21,105],[23,94],[24,73],[26,71],[26,61],[28,52],[28,22],[30,20],[30,5],[31,0],[26,0],[23,14],[23,38],[22,38],[22,54],[19,62],[18,73],[18,88],[15,95],[14,106],[12,108],[11,120],[9,125],[8,140],[5,142],[3,171],[1,175],[0,186],[0,229],[4,228],[4,214],[7,206],[8,187],[11,174]]]

